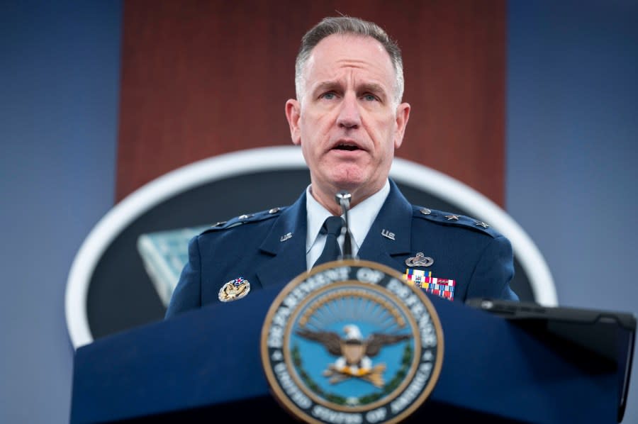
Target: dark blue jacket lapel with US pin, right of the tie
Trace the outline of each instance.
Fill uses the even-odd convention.
[[[404,272],[402,259],[410,253],[411,228],[412,206],[390,180],[390,193],[359,249],[359,259]]]

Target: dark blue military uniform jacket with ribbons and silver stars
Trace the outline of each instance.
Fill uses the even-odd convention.
[[[432,277],[454,279],[455,301],[472,297],[516,299],[510,242],[471,218],[411,205],[394,182],[362,243],[358,257],[405,273],[405,261],[422,252],[434,262],[412,267]],[[218,302],[220,288],[242,277],[250,294],[281,285],[306,272],[306,191],[285,208],[243,215],[218,223],[189,242],[189,262],[181,272],[166,318]],[[393,233],[388,238],[382,232]]]

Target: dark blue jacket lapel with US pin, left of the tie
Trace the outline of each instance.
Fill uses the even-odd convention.
[[[262,286],[287,284],[306,272],[306,191],[281,213],[259,249],[269,256],[257,267]]]

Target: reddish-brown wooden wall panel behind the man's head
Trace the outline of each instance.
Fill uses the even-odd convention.
[[[116,201],[204,157],[291,143],[299,41],[337,11],[403,50],[412,113],[397,156],[502,205],[505,0],[125,1]]]

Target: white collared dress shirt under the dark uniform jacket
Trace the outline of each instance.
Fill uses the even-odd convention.
[[[368,235],[368,231],[372,226],[376,216],[384,205],[388,194],[390,193],[390,182],[386,180],[386,184],[375,194],[365,199],[348,212],[348,224],[350,227],[350,238],[352,240],[352,256],[357,257],[359,247]],[[332,216],[332,213],[315,200],[312,194],[312,186],[306,189],[306,214],[308,219],[308,233],[306,234],[306,267],[308,270],[313,266],[315,261],[323,252],[325,245],[325,234],[321,234],[321,227],[325,218]],[[343,216],[342,216],[343,218]],[[343,246],[345,236],[340,235],[339,245]]]

